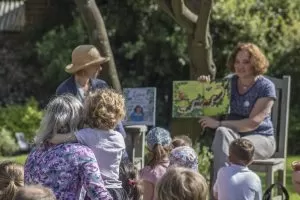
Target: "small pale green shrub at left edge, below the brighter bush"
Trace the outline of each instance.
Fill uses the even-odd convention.
[[[18,146],[13,138],[11,132],[1,128],[0,130],[0,155],[8,156],[12,155],[15,151],[18,150]]]

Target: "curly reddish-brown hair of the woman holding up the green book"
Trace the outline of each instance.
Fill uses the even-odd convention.
[[[254,75],[261,75],[267,72],[269,61],[263,52],[253,43],[238,43],[232,51],[227,61],[227,67],[231,72],[235,72],[234,63],[236,55],[240,51],[247,51],[250,54],[250,63],[254,70]]]

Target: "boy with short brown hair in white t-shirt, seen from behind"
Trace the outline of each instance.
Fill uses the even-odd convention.
[[[213,187],[214,197],[218,200],[261,200],[260,178],[251,171],[254,146],[251,141],[239,138],[229,147],[229,165],[218,171]]]

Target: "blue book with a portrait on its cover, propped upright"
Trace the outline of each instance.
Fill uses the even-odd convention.
[[[126,118],[124,125],[155,126],[156,88],[124,88]]]

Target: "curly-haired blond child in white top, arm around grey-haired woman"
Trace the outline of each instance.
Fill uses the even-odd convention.
[[[100,89],[90,93],[84,101],[85,125],[73,134],[56,134],[51,143],[78,141],[94,152],[105,187],[113,199],[127,199],[126,191],[119,180],[119,168],[125,141],[121,133],[114,130],[125,117],[125,101],[112,89]]]

